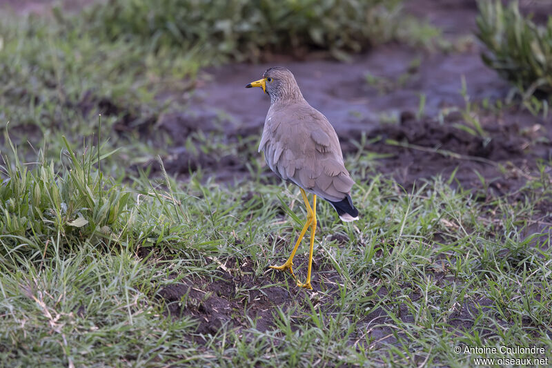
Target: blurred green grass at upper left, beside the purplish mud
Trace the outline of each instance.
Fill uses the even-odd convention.
[[[124,151],[119,162],[143,163],[144,155],[162,152],[156,148],[160,144],[151,144],[164,142],[164,135],[154,128],[161,115],[184,103],[157,95],[161,90],[186,93],[199,67],[183,53],[153,53],[124,41],[108,43],[62,20],[10,19],[3,14],[0,37],[0,127],[10,127],[14,143],[27,157],[34,157],[27,141],[34,150],[48,142],[50,156],[63,148],[60,135],[82,145],[83,137],[95,131],[96,124],[90,122],[103,113],[108,147]],[[3,139],[0,144],[6,147]],[[108,165],[115,163],[108,159]]]

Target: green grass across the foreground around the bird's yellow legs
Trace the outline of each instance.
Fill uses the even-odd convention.
[[[476,356],[455,354],[455,345],[538,345],[552,358],[544,165],[515,196],[486,202],[452,189],[453,178],[412,193],[380,175],[360,182],[358,222],[342,224],[320,204],[319,291],[305,292],[266,269],[286,258],[301,228],[295,186],[144,176],[121,184],[99,175],[95,148],[81,155],[63,144],[70,159],[59,171],[43,155],[3,168],[6,365],[471,365]],[[366,170],[359,162],[347,163],[353,175]],[[141,249],[152,253],[138,256]],[[302,246],[299,278],[305,257]],[[210,289],[221,280],[230,291]],[[158,297],[182,282],[201,293]],[[277,290],[289,296],[257,328],[259,298]],[[232,320],[217,333],[197,332],[197,313],[213,300],[233,308]],[[175,303],[183,316],[167,314]]]

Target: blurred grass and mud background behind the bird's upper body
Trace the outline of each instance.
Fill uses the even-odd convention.
[[[366,167],[410,185],[460,164],[477,185],[477,162],[427,149],[550,155],[552,5],[502,3],[1,1],[0,125],[20,153],[57,156],[60,135],[81,144],[101,113],[106,150],[120,150],[106,168],[155,173],[161,155],[177,177],[233,182],[266,172],[268,97],[243,87],[281,65]]]

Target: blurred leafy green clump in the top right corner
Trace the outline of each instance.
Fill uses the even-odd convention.
[[[537,26],[520,14],[517,1],[479,1],[477,37],[489,48],[483,61],[529,97],[552,93],[552,16]]]

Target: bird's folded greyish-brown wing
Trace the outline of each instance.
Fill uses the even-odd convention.
[[[328,119],[309,105],[269,112],[259,151],[272,171],[326,200],[343,200],[353,187]]]

